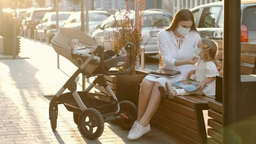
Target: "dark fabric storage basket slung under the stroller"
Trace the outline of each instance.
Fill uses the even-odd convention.
[[[104,96],[100,94],[93,94],[87,92],[78,92],[78,94],[86,107],[95,108],[101,114],[107,112],[114,112],[114,106],[119,102],[118,100],[114,100],[110,96]],[[62,94],[59,100],[64,104],[68,111],[79,114],[82,112],[71,92]]]

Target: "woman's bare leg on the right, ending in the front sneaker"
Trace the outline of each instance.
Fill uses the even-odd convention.
[[[155,114],[155,112],[161,102],[161,95],[158,90],[158,86],[161,86],[161,84],[159,82],[155,82],[152,92],[151,92],[151,95],[150,95],[148,106],[146,108],[146,112],[144,113],[142,118],[139,120],[139,124],[143,127],[145,127],[149,124],[150,119]]]

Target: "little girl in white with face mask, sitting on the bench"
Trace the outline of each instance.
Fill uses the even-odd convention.
[[[214,96],[215,95],[215,79],[219,75],[218,69],[216,66],[215,55],[218,50],[217,44],[208,38],[202,38],[198,41],[198,48],[194,49],[194,55],[200,57],[201,60],[198,62],[198,67],[196,70],[188,72],[187,78],[190,78],[192,74],[195,74],[194,80],[199,81],[198,90],[188,92],[184,89],[174,89],[169,86],[168,83],[165,83],[168,98],[173,98],[176,95],[190,95],[190,94],[199,94]],[[204,88],[204,85],[207,85]]]

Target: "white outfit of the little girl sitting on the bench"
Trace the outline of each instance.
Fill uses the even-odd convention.
[[[194,80],[201,82],[205,80],[206,78],[216,77],[219,75],[218,69],[214,62],[209,61],[205,62],[204,60],[200,60],[198,62],[198,67],[196,69],[196,73],[194,76]],[[175,89],[177,94],[176,95],[190,95],[190,94],[205,94],[206,96],[214,96],[215,95],[215,84],[216,80],[206,84],[207,87],[203,88],[202,90],[195,90],[192,92],[188,92],[184,89]]]

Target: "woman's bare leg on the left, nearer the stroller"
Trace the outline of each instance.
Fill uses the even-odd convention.
[[[154,86],[153,81],[143,79],[141,85],[140,85],[140,95],[139,95],[139,102],[138,102],[138,117],[137,120],[140,121],[142,116],[144,115],[147,107],[148,102],[150,99],[150,95],[152,92],[152,88]]]

